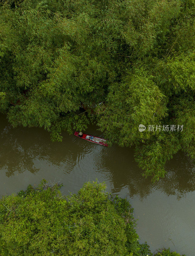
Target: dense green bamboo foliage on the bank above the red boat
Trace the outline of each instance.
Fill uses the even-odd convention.
[[[57,141],[96,122],[159,179],[178,150],[195,157],[194,18],[194,0],[2,1],[0,111]]]

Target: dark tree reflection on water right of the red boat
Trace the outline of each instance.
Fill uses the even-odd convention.
[[[166,165],[165,178],[152,183],[151,177],[145,179],[141,176],[142,170],[134,161],[134,150],[118,148],[108,150],[107,157],[102,153],[102,165],[107,166],[112,173],[112,193],[117,193],[120,188],[126,186],[129,196],[146,198],[154,189],[165,192],[168,196],[177,195],[183,197],[187,192],[195,190],[195,166],[193,162],[182,152],[179,152]]]

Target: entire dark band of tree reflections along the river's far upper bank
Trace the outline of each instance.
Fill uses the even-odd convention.
[[[7,177],[14,175],[16,171],[35,174],[42,168],[42,162],[58,166],[63,172],[70,173],[78,163],[82,164],[86,154],[90,154],[91,158],[85,162],[83,169],[91,166],[97,172],[106,173],[109,182],[112,182],[112,193],[118,193],[127,187],[130,197],[140,196],[143,200],[153,190],[160,189],[168,196],[177,195],[179,199],[187,192],[195,190],[194,164],[182,152],[166,165],[165,178],[152,183],[151,177],[146,179],[141,175],[142,170],[134,161],[133,148],[113,145],[95,150],[98,145],[86,144],[86,141],[67,133],[64,133],[63,142],[52,143],[49,133],[43,129],[13,129],[5,116],[1,116],[1,121],[0,170],[5,170]],[[89,131],[91,134],[100,135],[96,126],[91,126]]]

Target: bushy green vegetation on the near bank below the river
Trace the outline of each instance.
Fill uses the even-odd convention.
[[[28,186],[0,200],[0,255],[152,256],[139,243],[133,208],[105,192],[105,184],[85,183],[78,194],[62,196],[61,184]],[[155,256],[180,256],[170,249]]]

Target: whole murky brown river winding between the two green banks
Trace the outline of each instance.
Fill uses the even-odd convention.
[[[141,242],[147,241],[153,252],[170,247],[195,255],[195,167],[184,154],[174,156],[166,178],[153,184],[141,176],[133,149],[106,148],[66,133],[62,143],[52,143],[43,129],[12,128],[5,116],[0,121],[0,196],[42,178],[63,182],[63,194],[76,193],[97,178],[108,191],[128,198]],[[100,135],[96,129],[87,132]]]

